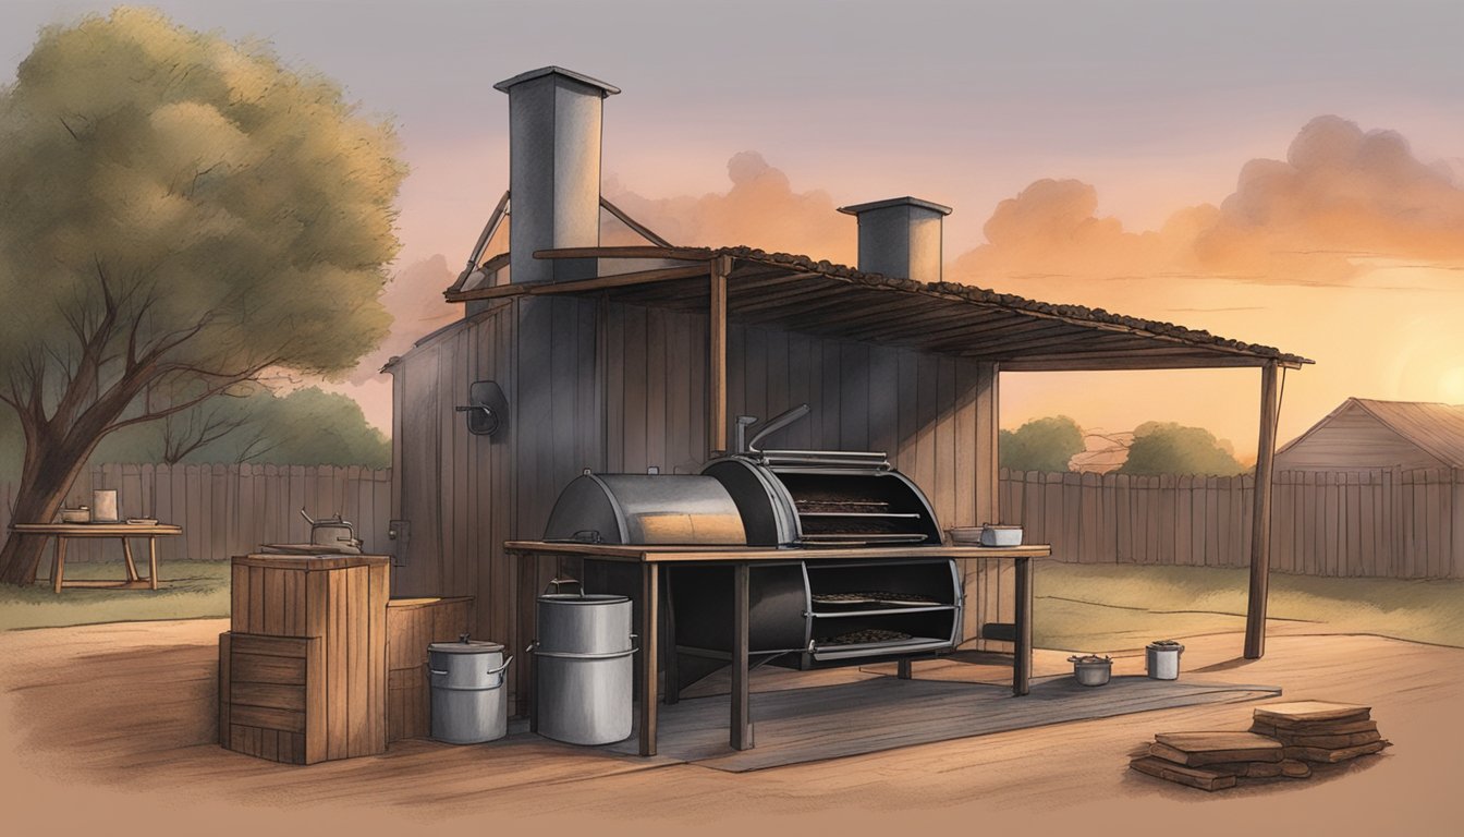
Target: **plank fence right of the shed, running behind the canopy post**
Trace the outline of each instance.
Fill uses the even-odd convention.
[[[1073,563],[1244,567],[1255,478],[1001,471],[1003,522]],[[1313,576],[1464,578],[1464,472],[1282,471],[1271,566]]]

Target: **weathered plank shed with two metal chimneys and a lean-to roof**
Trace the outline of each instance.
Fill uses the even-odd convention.
[[[504,541],[542,537],[581,469],[694,473],[726,450],[736,415],[804,402],[811,415],[780,447],[886,451],[943,526],[996,520],[1003,369],[1256,366],[1269,465],[1278,369],[1304,358],[941,281],[950,210],[912,198],[846,208],[859,270],[672,246],[599,195],[600,103],[618,89],[559,67],[498,86],[509,94],[511,189],[447,292],[464,318],[386,366],[394,595],[473,595],[476,633],[523,648],[533,602],[515,601]],[[646,246],[599,246],[602,213]],[[489,257],[505,227],[509,251]],[[474,397],[496,391],[499,427],[471,432],[474,419],[489,429]],[[1263,572],[1263,539],[1253,548]],[[965,586],[966,638],[1007,619],[1010,567],[972,572]]]

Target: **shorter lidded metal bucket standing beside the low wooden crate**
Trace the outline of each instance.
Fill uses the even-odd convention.
[[[432,737],[449,745],[476,745],[508,734],[508,665],[504,646],[470,641],[427,645],[432,683]]]

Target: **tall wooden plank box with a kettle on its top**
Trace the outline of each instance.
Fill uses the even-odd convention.
[[[237,556],[220,743],[291,764],[386,749],[384,556]]]

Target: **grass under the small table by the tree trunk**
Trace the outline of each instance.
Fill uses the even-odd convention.
[[[0,585],[0,630],[224,617],[228,567],[228,561],[165,561],[158,566],[163,580],[157,591],[67,588],[56,594],[48,582],[26,588]],[[122,579],[124,573],[122,561],[66,566],[67,579]]]

